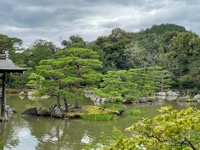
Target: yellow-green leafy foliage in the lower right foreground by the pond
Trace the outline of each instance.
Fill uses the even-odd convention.
[[[200,148],[199,110],[187,108],[177,111],[171,107],[162,107],[159,111],[161,114],[153,119],[143,118],[127,128],[126,130],[132,133],[131,137],[122,134],[113,136],[113,139],[108,137],[110,140],[106,139],[102,143],[103,148],[99,149],[196,150]]]

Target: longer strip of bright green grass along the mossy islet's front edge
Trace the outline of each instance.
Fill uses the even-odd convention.
[[[112,114],[83,114],[82,118],[95,121],[109,121],[115,120],[117,117]]]

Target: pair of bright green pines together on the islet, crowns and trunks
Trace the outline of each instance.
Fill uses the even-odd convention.
[[[101,68],[96,52],[85,48],[70,48],[60,50],[56,58],[40,61],[36,66],[36,74],[32,73],[28,86],[36,88],[39,93],[63,98],[68,110],[67,99],[76,99],[75,107],[79,107],[79,100],[83,97],[83,88],[95,85],[102,74],[96,72]]]

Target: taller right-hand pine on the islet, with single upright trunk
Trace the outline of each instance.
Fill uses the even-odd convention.
[[[74,78],[73,85],[77,93],[75,107],[78,108],[82,89],[97,85],[96,82],[101,80],[102,75],[97,71],[102,67],[102,63],[98,60],[97,52],[85,48],[60,50],[58,56],[63,65],[69,67],[71,77]]]

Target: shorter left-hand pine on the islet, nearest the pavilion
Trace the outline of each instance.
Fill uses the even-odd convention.
[[[38,88],[39,93],[48,94],[57,98],[57,104],[61,106],[61,98],[64,99],[65,109],[68,110],[68,101],[66,97],[70,96],[70,87],[73,84],[71,80],[74,80],[70,76],[70,69],[65,65],[62,65],[62,60],[47,59],[42,60],[39,66],[36,67],[36,75],[32,74],[35,82],[40,85]],[[37,78],[35,78],[35,76]],[[39,77],[39,78],[38,78]],[[31,76],[30,76],[31,78]],[[42,79],[42,80],[41,80]],[[29,81],[31,84],[33,81]]]

